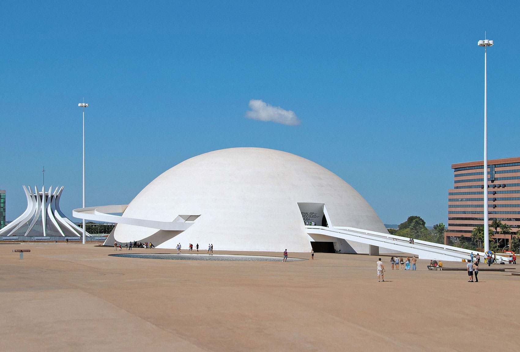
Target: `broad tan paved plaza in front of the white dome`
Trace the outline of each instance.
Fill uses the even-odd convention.
[[[19,260],[13,249],[31,252]],[[283,263],[113,253],[94,244],[0,244],[0,350],[466,351],[519,343],[520,277],[507,273],[480,272],[469,283],[465,272],[428,271],[425,260],[415,272],[391,270],[384,256],[387,281],[378,282],[377,257],[368,255],[289,253],[309,260]]]

